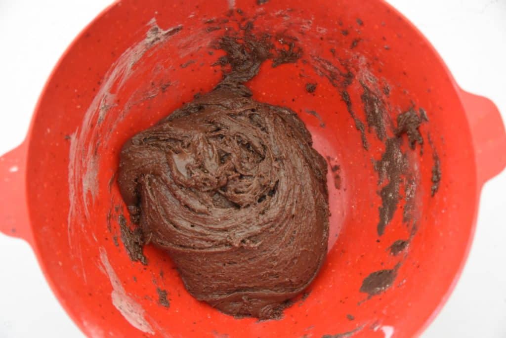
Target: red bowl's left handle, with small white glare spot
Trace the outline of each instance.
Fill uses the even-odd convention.
[[[0,232],[31,244],[26,201],[26,143],[0,157]]]

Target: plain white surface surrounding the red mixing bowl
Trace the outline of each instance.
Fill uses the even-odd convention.
[[[110,2],[0,0],[0,154],[21,143],[58,58]],[[457,82],[491,98],[506,120],[506,0],[390,3],[426,34]],[[504,194],[506,173],[485,186],[470,259],[424,337],[506,337]],[[51,293],[28,244],[0,234],[0,337],[34,336],[82,333]]]

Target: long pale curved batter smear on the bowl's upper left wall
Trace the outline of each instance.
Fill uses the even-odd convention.
[[[81,261],[80,268],[76,265],[74,271],[85,282],[87,278],[82,264],[80,240],[85,239],[91,244],[94,239],[93,233],[91,236],[84,235],[87,231],[85,225],[90,220],[90,209],[94,206],[99,190],[100,145],[107,144],[114,135],[114,126],[121,118],[115,115],[108,120],[109,110],[116,105],[115,93],[135,72],[134,65],[148,50],[165,42],[182,28],[182,26],[176,26],[164,30],[158,27],[155,19],[152,19],[148,23],[145,38],[121,54],[107,71],[104,82],[101,83],[92,103],[83,115],[82,124],[72,135],[66,137],[70,139],[67,235],[72,255]]]

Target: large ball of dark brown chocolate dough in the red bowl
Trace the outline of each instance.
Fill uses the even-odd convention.
[[[193,297],[271,319],[325,259],[326,172],[294,112],[218,88],[126,142],[118,183]]]

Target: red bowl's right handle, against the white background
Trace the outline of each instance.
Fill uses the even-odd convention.
[[[497,106],[487,98],[461,90],[460,97],[475,148],[478,183],[485,184],[506,167],[506,132]]]

